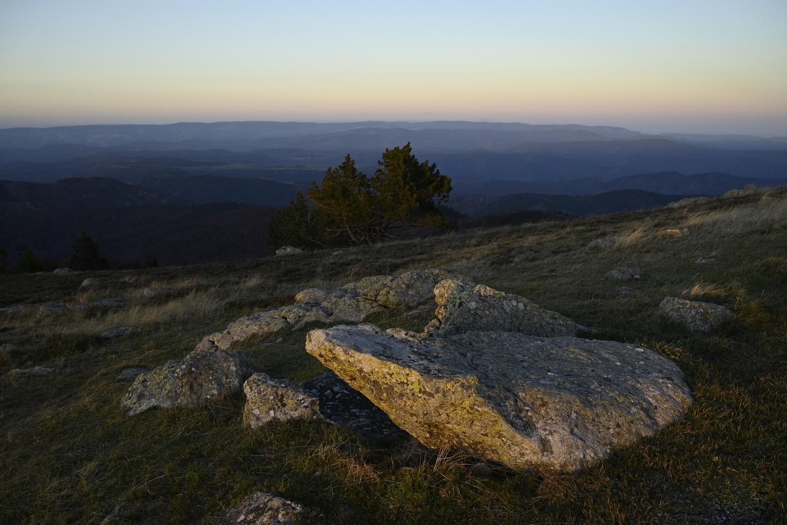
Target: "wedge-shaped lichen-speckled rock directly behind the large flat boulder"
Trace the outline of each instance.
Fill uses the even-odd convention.
[[[434,288],[434,295],[439,305],[435,315],[441,321],[434,331],[438,337],[467,331],[516,331],[544,337],[577,333],[577,324],[567,317],[482,284],[471,288],[445,279]]]

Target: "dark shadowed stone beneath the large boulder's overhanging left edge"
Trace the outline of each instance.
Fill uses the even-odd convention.
[[[320,400],[320,415],[340,427],[346,427],[364,438],[393,438],[405,431],[369,398],[355,390],[335,372],[306,379],[299,385]]]

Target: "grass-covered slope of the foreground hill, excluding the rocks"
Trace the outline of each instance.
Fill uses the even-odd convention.
[[[255,490],[309,507],[311,523],[783,523],[787,519],[787,190],[683,209],[501,227],[231,263],[76,275],[0,275],[0,523],[224,523]],[[777,198],[773,198],[777,197]],[[779,199],[779,197],[781,197]],[[689,235],[666,235],[688,228]],[[606,250],[588,249],[613,238]],[[715,262],[695,264],[698,257]],[[642,279],[604,279],[618,266]],[[478,466],[411,438],[369,441],[327,423],[242,426],[243,394],[127,418],[120,370],[180,359],[204,335],[307,287],[442,268],[521,294],[595,337],[648,346],[685,371],[696,403],[655,438],[578,474]],[[79,288],[86,277],[102,284]],[[626,285],[643,294],[614,298]],[[141,290],[164,287],[166,298]],[[665,296],[728,305],[710,338],[661,319]],[[46,301],[124,297],[122,309],[37,315]],[[420,329],[430,312],[375,314]],[[99,335],[113,327],[139,331]],[[324,372],[300,331],[246,346],[294,383]],[[44,366],[47,376],[8,374]]]

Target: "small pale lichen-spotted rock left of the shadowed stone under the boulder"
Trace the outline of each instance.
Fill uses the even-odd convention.
[[[316,396],[293,386],[288,379],[271,379],[257,372],[246,383],[243,422],[257,428],[270,420],[315,420],[320,418],[320,401]]]

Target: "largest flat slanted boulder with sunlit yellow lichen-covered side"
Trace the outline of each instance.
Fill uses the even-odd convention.
[[[306,349],[424,445],[515,469],[582,468],[680,420],[692,402],[671,360],[619,342],[442,339],[362,324],[312,330]]]

